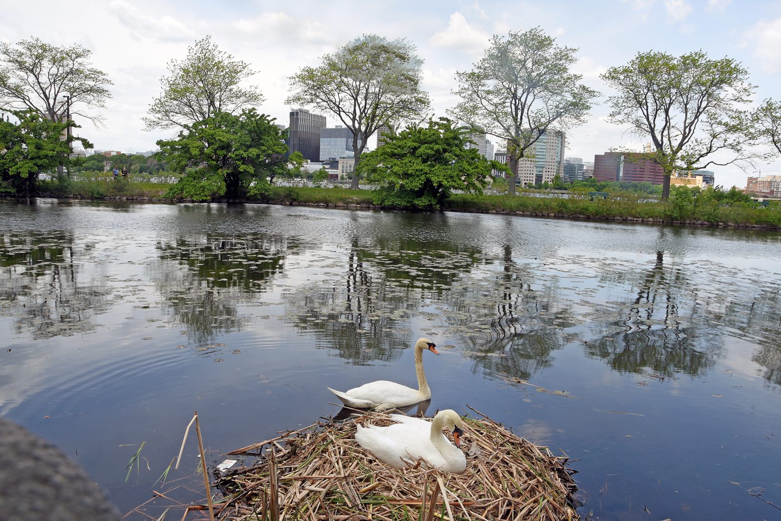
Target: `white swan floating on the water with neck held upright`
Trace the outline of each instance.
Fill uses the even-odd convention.
[[[417,391],[387,380],[369,382],[369,384],[363,384],[361,387],[355,387],[345,393],[334,391],[330,387],[328,387],[328,390],[336,394],[344,405],[355,407],[356,409],[370,409],[373,407],[377,409],[393,409],[394,407],[403,407],[404,405],[412,405],[419,401],[428,400],[431,398],[431,390],[429,389],[429,384],[426,384],[426,374],[423,373],[423,351],[428,349],[433,354],[439,355],[439,351],[435,347],[436,344],[428,338],[419,338],[415,342],[415,372],[418,373]]]

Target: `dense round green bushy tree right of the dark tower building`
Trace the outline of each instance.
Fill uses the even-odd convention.
[[[426,127],[408,127],[366,154],[360,173],[383,185],[375,191],[376,204],[437,210],[454,190],[483,193],[491,170],[507,167],[465,148],[468,134],[468,128],[439,118]]]

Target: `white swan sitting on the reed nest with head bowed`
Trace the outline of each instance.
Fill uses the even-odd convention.
[[[466,469],[466,456],[458,448],[463,434],[462,419],[452,409],[437,413],[432,421],[391,414],[395,422],[387,427],[357,426],[355,441],[380,461],[402,469],[424,459],[441,472],[460,474]],[[442,434],[445,426],[453,431],[455,446]]]

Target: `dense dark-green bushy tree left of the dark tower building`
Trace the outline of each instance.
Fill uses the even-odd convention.
[[[267,177],[287,171],[287,145],[273,122],[255,109],[217,112],[185,126],[175,140],[157,141],[159,158],[173,172],[185,173],[168,196],[204,201],[266,194]]]

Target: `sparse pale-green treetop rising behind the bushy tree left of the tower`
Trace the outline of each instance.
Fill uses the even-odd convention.
[[[170,75],[160,79],[162,94],[143,118],[147,130],[187,128],[219,112],[235,114],[264,100],[258,87],[240,85],[255,74],[249,64],[220,51],[210,36],[187,48],[184,60],[171,60],[168,70]]]

